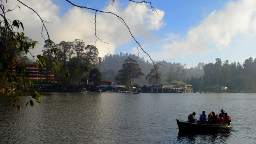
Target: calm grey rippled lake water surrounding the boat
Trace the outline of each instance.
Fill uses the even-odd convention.
[[[256,143],[255,93],[43,95],[42,104],[21,113],[0,97],[0,143]],[[221,109],[232,118],[231,131],[179,133],[176,119]]]

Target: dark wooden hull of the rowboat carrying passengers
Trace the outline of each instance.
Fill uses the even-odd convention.
[[[200,123],[189,123],[183,120],[177,120],[179,131],[215,131],[219,129],[230,130],[232,128],[232,122],[224,124],[200,124]]]

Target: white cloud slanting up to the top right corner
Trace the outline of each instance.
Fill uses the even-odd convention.
[[[222,51],[232,43],[232,38],[239,35],[256,35],[256,1],[244,0],[228,2],[223,10],[213,11],[191,28],[185,38],[172,39],[163,44],[161,58],[185,57],[195,53],[208,53],[213,47]],[[158,54],[159,55],[159,54]]]

